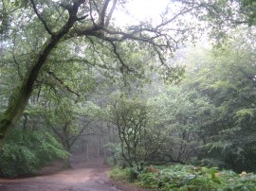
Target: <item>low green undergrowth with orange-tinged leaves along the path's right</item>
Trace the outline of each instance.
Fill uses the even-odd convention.
[[[256,190],[256,175],[216,167],[192,165],[149,166],[140,173],[133,168],[114,167],[109,177],[116,182],[136,182],[153,190],[182,191],[244,191]]]

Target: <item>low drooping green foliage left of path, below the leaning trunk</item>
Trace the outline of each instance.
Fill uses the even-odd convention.
[[[1,149],[0,174],[9,178],[32,175],[53,159],[67,155],[46,131],[12,130]]]

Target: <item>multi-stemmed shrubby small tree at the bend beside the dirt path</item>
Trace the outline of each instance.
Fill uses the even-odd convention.
[[[105,120],[117,131],[123,160],[137,170],[145,164],[180,162],[169,155],[171,130],[150,99],[118,93],[110,97]]]

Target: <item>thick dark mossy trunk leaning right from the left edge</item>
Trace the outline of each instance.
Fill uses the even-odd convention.
[[[69,19],[66,24],[56,34],[51,34],[51,37],[46,41],[40,53],[33,61],[31,70],[27,71],[27,78],[25,78],[21,86],[16,87],[9,97],[7,110],[0,116],[0,148],[3,146],[6,135],[12,127],[15,126],[24,112],[28,99],[31,96],[34,82],[38,77],[42,66],[46,63],[46,59],[50,52],[77,21],[76,14],[82,2],[83,1],[81,0],[79,3],[74,4],[73,8],[69,10]]]

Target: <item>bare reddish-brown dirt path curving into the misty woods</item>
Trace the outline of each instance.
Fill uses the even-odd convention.
[[[81,155],[71,158],[72,168],[59,170],[62,164],[46,166],[32,178],[0,179],[0,191],[142,191],[130,184],[115,185],[107,178],[109,166],[101,158],[88,162]]]

